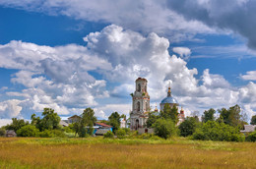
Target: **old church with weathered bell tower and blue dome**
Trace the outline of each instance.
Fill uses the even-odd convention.
[[[148,81],[144,78],[138,78],[135,81],[135,91],[132,93],[132,111],[130,113],[130,129],[132,131],[139,131],[139,133],[152,133],[146,127],[147,119],[149,118],[148,113],[151,111],[150,100],[151,97],[147,91]],[[173,105],[179,106],[177,100],[171,96],[170,86],[168,86],[167,96],[160,102],[160,111],[163,110],[165,104],[169,104],[170,107]],[[158,111],[157,107],[155,111]],[[183,108],[181,108],[178,114],[178,123],[185,120],[185,114]]]

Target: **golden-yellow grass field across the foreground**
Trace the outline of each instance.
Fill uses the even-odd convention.
[[[0,138],[0,168],[256,168],[256,143]]]

